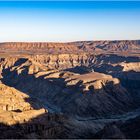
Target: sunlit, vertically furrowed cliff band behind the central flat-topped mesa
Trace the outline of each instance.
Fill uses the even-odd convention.
[[[94,63],[95,56],[82,54],[55,54],[55,55],[34,55],[30,59],[45,64],[51,69],[66,69],[76,66],[88,66]]]

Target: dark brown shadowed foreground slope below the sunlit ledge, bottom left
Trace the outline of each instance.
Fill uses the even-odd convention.
[[[0,139],[67,138],[66,116],[44,113],[22,124],[0,123]]]

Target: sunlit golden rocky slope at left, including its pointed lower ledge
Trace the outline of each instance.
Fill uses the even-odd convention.
[[[27,94],[0,84],[0,123],[13,125],[47,112]],[[40,110],[39,110],[40,109]]]

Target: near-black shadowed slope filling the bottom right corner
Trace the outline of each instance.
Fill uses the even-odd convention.
[[[97,132],[95,139],[139,139],[140,116],[129,119],[126,122],[112,122]]]

